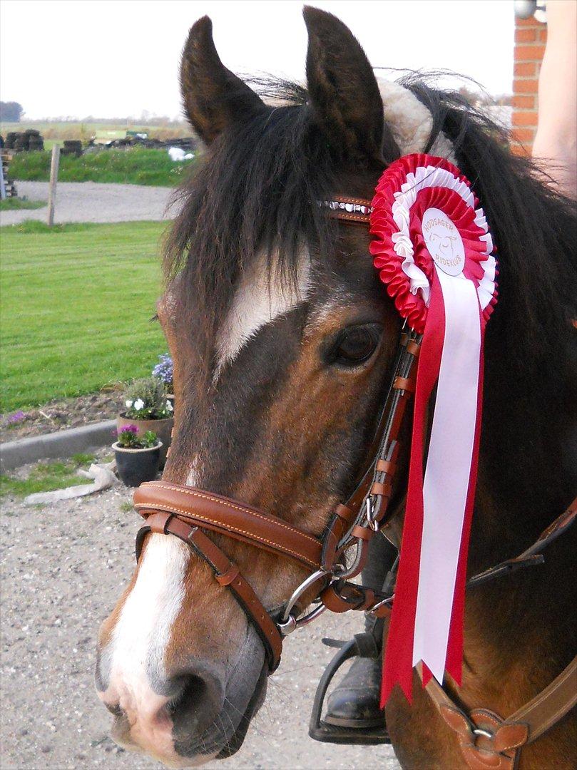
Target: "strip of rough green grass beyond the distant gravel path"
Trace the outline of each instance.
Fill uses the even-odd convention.
[[[166,149],[102,149],[76,156],[60,156],[59,182],[118,182],[173,187],[190,163],[173,162]],[[18,152],[10,162],[11,179],[48,182],[50,152]]]

